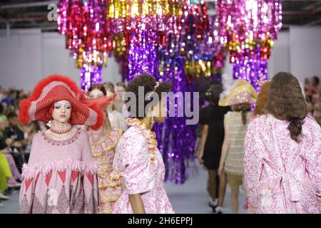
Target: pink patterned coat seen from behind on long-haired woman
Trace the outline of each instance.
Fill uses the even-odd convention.
[[[320,213],[320,126],[307,116],[297,143],[288,125],[260,115],[248,127],[244,168],[252,213]]]

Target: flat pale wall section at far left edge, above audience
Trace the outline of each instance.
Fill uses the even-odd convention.
[[[12,31],[10,38],[0,33],[0,51],[0,85],[34,87],[41,78],[41,31]]]

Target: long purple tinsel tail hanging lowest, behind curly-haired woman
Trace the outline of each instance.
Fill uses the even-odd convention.
[[[162,54],[162,53],[161,53]],[[159,78],[163,81],[171,81],[172,92],[193,92],[192,84],[188,84],[184,73],[183,58],[170,58],[163,55],[161,58],[165,65],[170,64],[165,74]],[[193,94],[193,93],[192,93]],[[175,100],[175,104],[168,100],[168,114],[171,107],[175,107],[175,117],[169,117],[164,124],[156,124],[158,145],[165,163],[165,182],[183,184],[190,174],[190,165],[195,163],[195,129],[196,125],[186,125],[186,117],[178,117],[178,107],[181,105],[193,105],[193,95],[190,104],[182,104],[181,100]],[[194,164],[195,165],[195,164]]]

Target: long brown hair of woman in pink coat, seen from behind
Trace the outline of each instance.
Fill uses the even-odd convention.
[[[288,120],[290,124],[287,129],[292,140],[300,142],[307,103],[299,81],[291,73],[279,72],[272,78],[265,112],[279,120]]]

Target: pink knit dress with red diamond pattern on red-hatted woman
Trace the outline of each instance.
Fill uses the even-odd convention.
[[[37,133],[23,167],[20,213],[98,213],[97,169],[84,130],[63,141]]]

